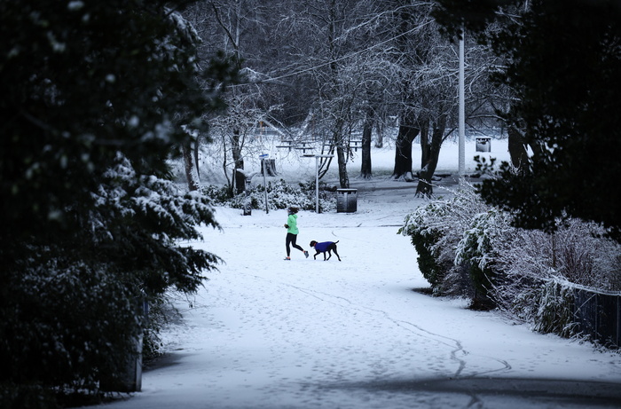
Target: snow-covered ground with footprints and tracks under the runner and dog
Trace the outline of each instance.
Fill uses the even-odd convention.
[[[506,142],[492,144],[491,156],[507,160]],[[472,143],[474,169],[470,151]],[[454,171],[456,152],[445,146],[438,169]],[[375,169],[384,169],[378,173],[389,173],[393,157],[373,152]],[[424,201],[413,197],[416,184],[356,178],[358,159],[350,165],[356,213],[301,211],[298,218],[298,244],[311,250],[311,240],[339,240],[342,262],[295,249],[284,261],[285,210],[241,216],[217,208],[223,231],[205,229],[193,246],[225,263],[198,295],[179,300],[185,322],[164,334],[169,352],[145,370],[142,392],[102,407],[621,405],[620,355],[533,333],[493,311],[469,311],[467,300],[413,291],[428,283],[397,229]],[[314,177],[314,162],[287,161],[281,176]]]

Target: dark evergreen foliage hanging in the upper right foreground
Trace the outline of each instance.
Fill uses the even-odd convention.
[[[552,231],[574,216],[621,241],[621,2],[436,3],[448,31],[476,31],[507,60],[494,75],[515,96],[507,122],[536,147],[519,172],[504,163],[486,180],[483,198],[521,227]]]

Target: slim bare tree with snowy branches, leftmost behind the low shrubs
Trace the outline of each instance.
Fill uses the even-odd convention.
[[[269,75],[262,73],[269,68],[263,63],[271,27],[271,7],[279,2],[259,0],[209,0],[191,9],[193,23],[203,38],[203,51],[221,49],[232,59],[243,83],[232,88],[228,95],[229,111],[210,118],[212,135],[218,133],[224,153],[223,169],[232,191],[244,192],[246,177],[245,148],[250,133],[259,122],[276,110],[269,97],[269,84],[261,83]],[[231,167],[228,158],[231,158]],[[229,179],[229,174],[232,178]]]

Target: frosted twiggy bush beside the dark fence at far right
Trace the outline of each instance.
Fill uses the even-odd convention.
[[[506,228],[492,240],[496,275],[491,298],[499,309],[531,322],[538,331],[570,334],[571,283],[593,291],[621,289],[621,246],[598,237],[601,232],[574,219],[551,234]]]

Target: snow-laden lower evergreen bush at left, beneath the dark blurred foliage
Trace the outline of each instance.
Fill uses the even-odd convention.
[[[48,388],[114,385],[138,353],[142,301],[169,288],[196,291],[219,260],[179,244],[200,239],[200,223],[217,226],[207,199],[138,174],[121,153],[90,199],[67,221],[80,229],[20,241],[28,257],[3,279],[1,329],[11,336],[0,341],[2,381],[11,374]]]

